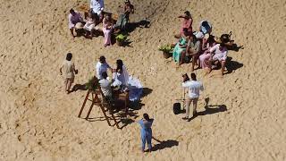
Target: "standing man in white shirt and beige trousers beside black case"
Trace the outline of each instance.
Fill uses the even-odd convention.
[[[186,105],[186,116],[183,117],[183,120],[189,121],[189,105],[191,102],[193,102],[193,113],[192,117],[197,114],[197,103],[198,103],[198,97],[199,97],[199,90],[204,90],[203,84],[197,80],[197,76],[195,73],[190,74],[191,80],[186,81],[186,77],[183,77],[183,81],[181,83],[181,86],[183,88],[189,89],[189,97],[187,98],[187,105]]]

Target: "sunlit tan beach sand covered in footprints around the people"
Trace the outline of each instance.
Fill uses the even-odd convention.
[[[130,21],[147,20],[150,28],[130,33],[131,47],[103,47],[103,38],[71,38],[67,15],[88,0],[0,1],[0,160],[286,160],[286,1],[283,0],[133,0]],[[120,0],[106,0],[116,12]],[[213,23],[214,35],[232,31],[244,46],[230,51],[231,73],[204,76],[196,119],[172,114],[181,98],[181,68],[165,60],[157,47],[172,43],[180,29],[176,18],[192,13],[193,28]],[[146,88],[139,110],[118,130],[95,108],[91,122],[77,117],[87,91],[66,95],[59,66],[67,52],[79,69],[75,83],[94,73],[99,55],[109,64],[121,58]],[[205,111],[204,98],[209,97]],[[155,118],[156,151],[141,154],[139,124]],[[84,111],[85,115],[87,110]],[[99,120],[99,121],[98,121]],[[132,123],[133,122],[133,123]],[[122,123],[120,124],[123,125]]]

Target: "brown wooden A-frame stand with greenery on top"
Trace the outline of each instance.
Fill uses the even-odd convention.
[[[116,119],[115,119],[115,117],[114,117],[114,113],[113,113],[113,112],[110,113],[110,114],[111,114],[111,118],[108,117],[107,114],[105,113],[106,111],[110,110],[112,106],[109,104],[108,101],[105,100],[105,96],[104,96],[104,94],[103,94],[103,92],[102,92],[102,90],[101,90],[101,88],[100,88],[100,85],[99,85],[99,83],[98,83],[97,77],[94,77],[94,78],[93,78],[93,83],[94,83],[94,85],[97,87],[97,90],[96,90],[96,91],[93,91],[93,90],[91,90],[91,89],[88,89],[87,96],[85,97],[85,99],[84,99],[84,101],[83,101],[83,104],[82,104],[81,109],[80,109],[80,114],[78,115],[78,117],[80,117],[80,115],[81,115],[81,113],[82,113],[82,111],[83,111],[84,106],[86,106],[86,103],[87,103],[87,101],[89,100],[89,101],[91,101],[92,103],[91,103],[91,105],[90,105],[90,107],[89,107],[89,110],[88,110],[88,114],[87,114],[86,119],[88,119],[88,116],[89,116],[89,114],[91,113],[92,107],[93,107],[94,105],[96,105],[96,106],[99,106],[99,107],[100,107],[102,113],[105,115],[105,119],[106,119],[106,122],[108,123],[108,125],[109,125],[109,126],[113,126],[113,125],[110,123],[110,121],[109,121],[109,119],[111,119],[111,120],[114,120],[114,125],[116,125],[116,127],[117,127],[118,129],[120,129],[120,127],[119,127],[119,125],[118,125],[118,122],[116,121]],[[91,99],[88,98],[90,94],[91,94]],[[100,98],[98,97],[98,95],[101,95],[102,100],[100,100]],[[105,110],[105,107],[107,108],[107,110]]]

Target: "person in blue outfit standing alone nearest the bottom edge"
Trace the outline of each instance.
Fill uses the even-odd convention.
[[[145,144],[147,141],[148,151],[151,152],[152,144],[152,123],[154,119],[150,119],[148,114],[143,114],[143,118],[139,120],[141,126],[141,141],[142,141],[142,152],[145,151]]]

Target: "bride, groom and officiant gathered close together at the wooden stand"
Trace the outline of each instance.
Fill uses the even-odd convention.
[[[108,77],[107,71],[113,72],[113,77]],[[108,100],[113,100],[114,89],[118,92],[128,91],[129,74],[122,60],[116,61],[116,68],[112,69],[107,64],[105,56],[100,56],[96,64],[96,76],[104,96]]]

